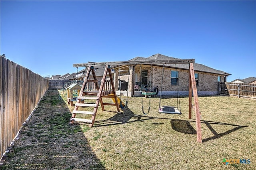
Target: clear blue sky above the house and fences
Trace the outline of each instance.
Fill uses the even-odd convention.
[[[0,53],[40,75],[156,53],[256,77],[256,1],[0,1]],[[83,69],[84,67],[80,67]]]

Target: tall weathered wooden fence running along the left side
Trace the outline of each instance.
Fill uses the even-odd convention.
[[[47,89],[47,79],[0,57],[0,158]]]

